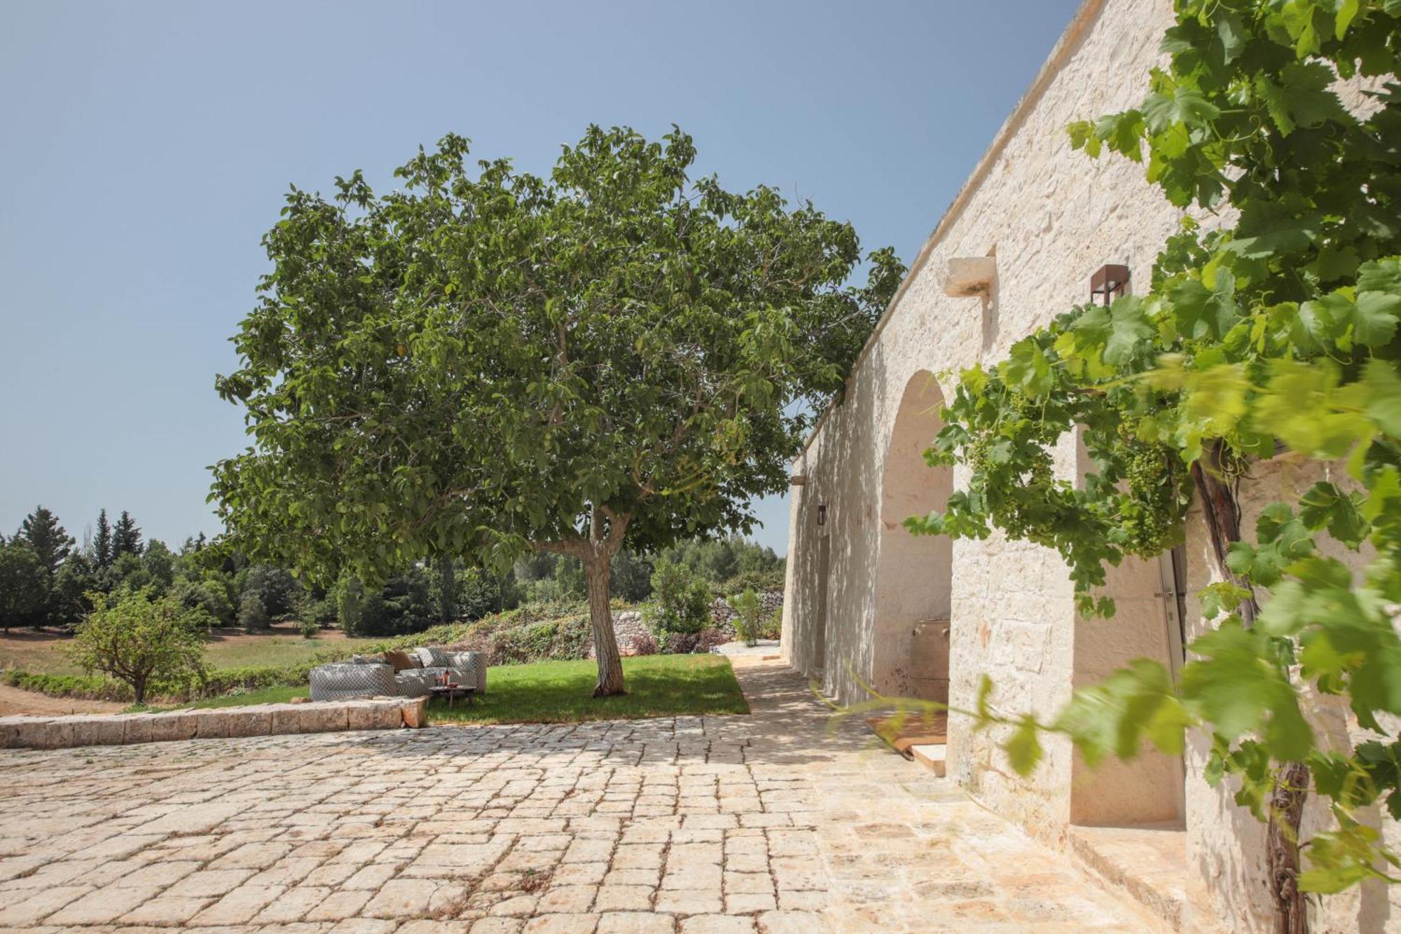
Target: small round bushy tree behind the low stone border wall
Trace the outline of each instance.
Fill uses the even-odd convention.
[[[153,680],[205,672],[205,637],[195,617],[179,600],[153,596],[150,588],[126,590],[108,604],[105,595],[90,593],[97,609],[67,647],[84,670],[104,672],[129,684],[137,704],[146,703]]]

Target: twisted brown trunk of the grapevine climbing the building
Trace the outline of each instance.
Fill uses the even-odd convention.
[[[1205,461],[1205,464],[1203,464]],[[1233,541],[1240,541],[1240,503],[1236,487],[1226,480],[1220,442],[1210,442],[1192,464],[1196,498],[1202,502],[1212,551],[1222,575],[1250,593],[1240,604],[1245,627],[1255,623],[1259,603],[1250,582],[1226,567]],[[1269,898],[1275,903],[1275,934],[1306,934],[1309,903],[1299,891],[1299,822],[1309,798],[1309,769],[1297,762],[1281,763],[1275,791],[1269,797],[1269,820],[1265,825],[1265,860],[1269,874]]]

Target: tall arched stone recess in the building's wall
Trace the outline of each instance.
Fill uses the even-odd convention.
[[[953,468],[930,467],[923,452],[943,426],[943,391],[927,370],[905,384],[881,473],[871,683],[901,697],[948,701],[953,541],[912,536],[909,516],[941,510]]]

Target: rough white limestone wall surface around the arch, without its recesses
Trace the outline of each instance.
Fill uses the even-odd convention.
[[[1093,10],[1093,7],[1087,7]],[[939,374],[951,397],[960,369],[996,363],[1010,345],[1089,299],[1090,275],[1124,262],[1146,283],[1153,258],[1178,223],[1121,158],[1090,160],[1070,150],[1065,126],[1135,105],[1168,22],[1166,0],[1112,0],[1072,27],[1052,56],[1044,93],[975,184],[971,199],[932,244],[885,328],[794,464],[807,478],[794,491],[789,537],[785,651],[813,672],[817,635],[817,505],[827,503],[831,572],[827,588],[825,687],[843,701],[863,700],[857,679],[871,672],[871,625],[883,534],[906,534],[905,516],[881,516],[881,478],[895,412],[920,370]],[[1016,121],[1016,118],[1014,118]],[[957,129],[951,129],[957,132]],[[953,257],[996,254],[992,295],[948,297],[943,275]],[[1076,475],[1073,439],[1058,450],[1062,477]],[[954,488],[967,482],[962,468]],[[957,541],[953,550],[950,698],[971,707],[984,672],[1007,711],[1049,711],[1069,697],[1075,613],[1065,565],[1051,551],[1009,543]],[[1028,780],[1016,777],[996,749],[998,733],[972,735],[958,717],[950,726],[950,774],[991,808],[1042,839],[1062,841],[1069,820],[1070,750],[1052,745]]]

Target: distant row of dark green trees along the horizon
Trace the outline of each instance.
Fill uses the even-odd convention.
[[[727,585],[775,588],[783,581],[783,558],[772,548],[729,537],[681,541],[656,555],[621,550],[612,560],[614,592],[626,602],[647,600],[653,571],[663,562],[684,567],[717,592]],[[137,589],[175,597],[206,628],[256,632],[296,618],[307,635],[324,625],[340,625],[349,635],[398,635],[524,603],[587,596],[583,564],[548,553],[518,561],[507,574],[446,561],[409,565],[381,588],[349,575],[321,588],[298,582],[286,568],[210,548],[203,533],[178,548],[143,540],[126,510],[112,523],[102,509],[81,544],[42,505],[13,536],[0,536],[0,630],[71,630],[95,600]]]

